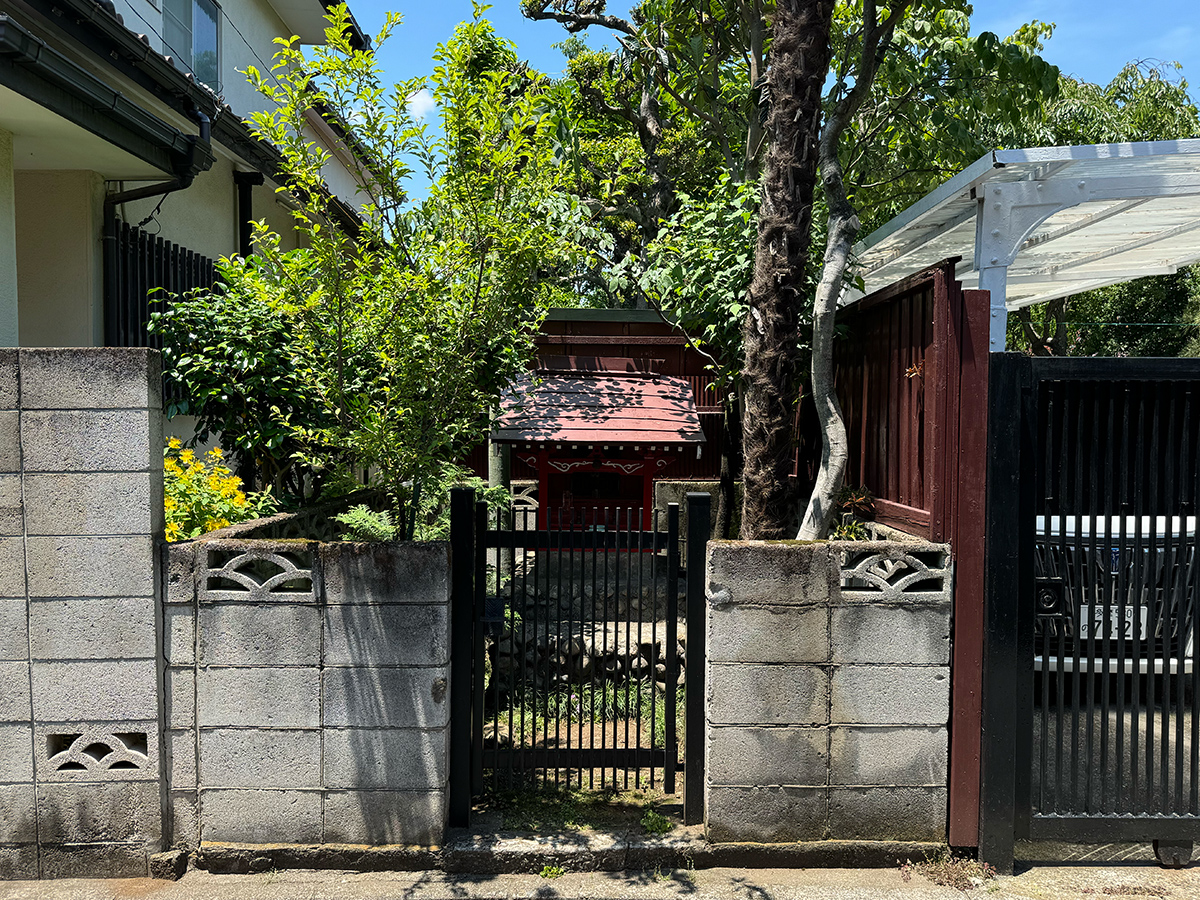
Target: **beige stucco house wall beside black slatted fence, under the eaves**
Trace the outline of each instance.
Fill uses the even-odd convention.
[[[22,346],[102,343],[103,179],[22,170],[16,184]]]

